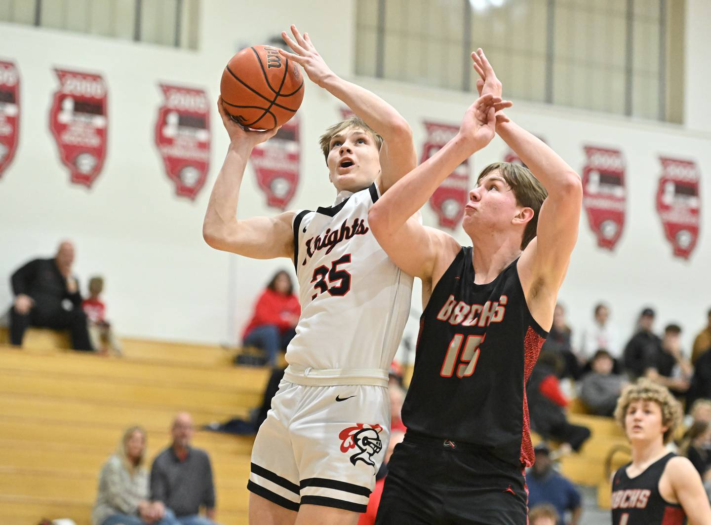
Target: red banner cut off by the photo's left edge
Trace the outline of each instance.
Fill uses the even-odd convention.
[[[20,75],[14,63],[0,60],[0,177],[17,149],[20,126]]]

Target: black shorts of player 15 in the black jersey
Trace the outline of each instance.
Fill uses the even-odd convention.
[[[527,503],[523,467],[407,433],[387,464],[375,525],[526,525]]]

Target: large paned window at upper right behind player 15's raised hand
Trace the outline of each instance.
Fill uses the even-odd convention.
[[[683,83],[678,80],[683,46],[677,44],[684,31],[685,0],[415,0],[416,6],[412,1],[400,6],[403,1],[356,3],[356,74],[472,92],[476,72],[469,54],[481,46],[491,50],[487,54],[508,86],[507,97],[641,119],[683,119]],[[461,13],[459,28],[438,18],[439,11],[453,8]],[[522,9],[535,22],[511,16]],[[415,23],[410,20],[403,31],[402,19],[408,17]],[[449,34],[447,53],[440,45],[439,63],[422,53],[430,43],[418,23]],[[497,23],[498,33],[487,26]],[[528,32],[530,46],[521,31]],[[416,53],[412,43],[417,38]],[[429,75],[417,78],[407,66],[429,68]],[[449,67],[447,78],[442,67]],[[518,82],[511,82],[515,77]]]

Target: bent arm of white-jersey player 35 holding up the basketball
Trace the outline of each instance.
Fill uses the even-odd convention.
[[[254,259],[273,259],[294,255],[294,212],[276,217],[252,217],[237,220],[237,201],[252,149],[277,133],[245,131],[223,109],[218,99],[218,111],[230,136],[230,146],[213,191],[203,221],[203,238],[211,247]]]

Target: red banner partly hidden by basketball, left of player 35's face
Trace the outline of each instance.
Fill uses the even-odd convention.
[[[299,117],[289,120],[266,142],[255,146],[250,162],[267,205],[286,209],[299,185]]]

